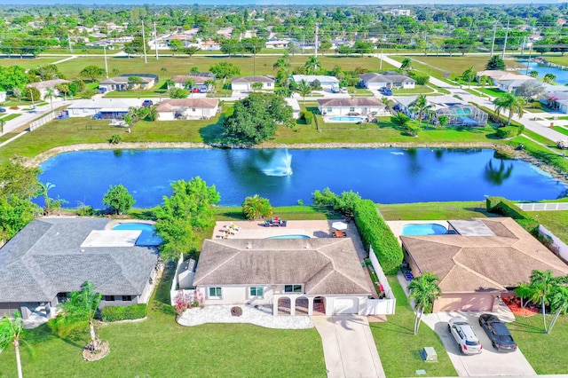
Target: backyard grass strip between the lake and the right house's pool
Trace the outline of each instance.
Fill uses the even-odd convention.
[[[377,208],[388,221],[469,219],[493,216],[485,210],[485,201],[378,204]]]

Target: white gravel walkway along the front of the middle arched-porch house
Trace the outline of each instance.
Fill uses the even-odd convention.
[[[231,305],[210,305],[202,309],[188,309],[177,319],[182,326],[199,326],[205,323],[248,323],[266,328],[304,329],[313,328],[307,316],[272,316],[272,306],[256,308],[241,306],[240,317],[231,315]]]

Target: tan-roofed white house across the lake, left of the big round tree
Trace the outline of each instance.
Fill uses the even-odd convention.
[[[218,98],[171,98],[156,106],[158,121],[209,119],[218,110]]]

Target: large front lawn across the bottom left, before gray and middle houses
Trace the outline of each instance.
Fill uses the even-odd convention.
[[[22,348],[24,376],[326,376],[321,339],[315,329],[177,325],[170,306],[172,272],[167,271],[151,300],[148,319],[100,328],[99,335],[108,340],[111,352],[97,362],[83,360],[86,333],[62,340],[45,325],[28,331],[24,339],[33,357]],[[61,366],[67,368],[62,370]],[[0,376],[16,375],[12,348],[0,354],[0,372]]]

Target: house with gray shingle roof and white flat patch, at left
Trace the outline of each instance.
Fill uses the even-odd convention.
[[[0,316],[51,311],[85,281],[103,295],[100,306],[141,303],[158,260],[138,246],[140,231],[107,229],[106,218],[38,218],[0,248]],[[37,310],[40,309],[40,310]]]

